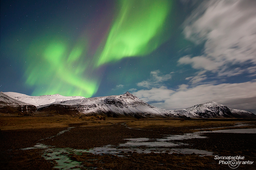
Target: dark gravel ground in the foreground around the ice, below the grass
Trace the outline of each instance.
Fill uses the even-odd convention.
[[[100,124],[100,123],[98,123]],[[89,149],[106,145],[117,146],[126,143],[126,138],[163,138],[192,132],[201,127],[147,127],[129,129],[122,123],[101,126],[81,127],[83,124],[70,124],[75,127],[56,136],[67,128],[45,128],[0,131],[0,167],[1,169],[55,169],[54,161],[47,161],[41,155],[43,149],[20,150],[33,147],[37,143],[56,148]],[[207,128],[207,125],[206,127]],[[253,127],[250,127],[253,128]],[[254,161],[252,165],[240,165],[236,169],[256,169],[256,134],[205,133],[207,138],[194,138],[179,142],[186,146],[175,148],[201,149],[220,156],[245,156],[245,160]],[[43,139],[43,140],[42,140]],[[200,157],[196,154],[129,153],[130,156],[95,155],[83,153],[70,154],[71,160],[81,162],[79,169],[230,169],[228,165],[219,165],[213,156]]]

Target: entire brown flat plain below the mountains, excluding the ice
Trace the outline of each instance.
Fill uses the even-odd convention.
[[[205,130],[256,128],[256,119],[125,119],[98,117],[0,117],[1,169],[57,169],[58,160],[46,160],[45,149],[29,148],[41,143],[53,148],[90,149],[118,146],[128,138],[159,139]],[[244,124],[244,126],[234,125]],[[72,128],[71,128],[72,127]],[[74,127],[74,128],[73,128]],[[222,127],[222,128],[218,128]],[[213,129],[206,129],[213,128]],[[63,133],[59,133],[62,132]],[[123,152],[120,155],[62,153],[78,162],[72,169],[231,169],[219,165],[218,156],[244,156],[251,165],[236,169],[256,169],[256,134],[204,133],[207,138],[179,142],[186,145],[166,148],[165,153]],[[146,149],[145,146],[138,146]],[[170,153],[173,148],[213,152],[212,156]],[[136,148],[135,148],[136,150]],[[55,168],[54,168],[55,167]]]

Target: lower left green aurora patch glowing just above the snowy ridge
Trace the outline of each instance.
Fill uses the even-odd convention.
[[[68,50],[63,41],[52,40],[48,45],[31,47],[30,56],[34,62],[27,68],[26,83],[36,86],[32,95],[61,93],[91,97],[98,89],[98,81],[85,72],[88,63],[82,57],[85,54],[83,46],[80,43]]]

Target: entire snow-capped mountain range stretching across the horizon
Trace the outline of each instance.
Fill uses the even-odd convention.
[[[35,107],[36,106],[36,107]],[[255,118],[256,115],[242,110],[230,109],[222,104],[207,102],[195,106],[165,110],[149,105],[133,94],[85,98],[81,96],[65,97],[59,94],[28,96],[15,92],[1,92],[0,113],[25,111],[41,114],[89,115],[100,114],[108,117],[132,116],[180,117],[180,118]],[[18,109],[17,109],[18,108]],[[7,109],[7,110],[6,110]]]

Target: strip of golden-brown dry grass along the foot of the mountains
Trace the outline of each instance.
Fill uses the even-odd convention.
[[[102,117],[102,116],[100,116]],[[65,116],[55,115],[50,117],[39,116],[24,116],[24,117],[0,117],[0,129],[1,130],[18,130],[18,129],[38,129],[38,128],[65,128],[69,126],[98,126],[98,125],[110,125],[120,122],[126,122],[126,125],[131,128],[137,129],[151,129],[156,126],[162,128],[187,128],[191,132],[199,131],[193,129],[203,128],[217,128],[234,126],[236,123],[248,123],[256,124],[256,121],[247,121],[230,119],[218,119],[218,120],[186,120],[186,119],[135,119],[135,118],[107,118],[106,120],[99,119],[99,116]],[[239,127],[241,128],[241,127]],[[252,128],[252,126],[250,126]],[[219,128],[227,129],[227,128]],[[209,129],[216,130],[216,129]]]

